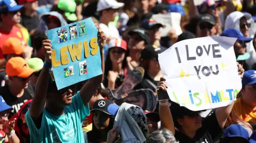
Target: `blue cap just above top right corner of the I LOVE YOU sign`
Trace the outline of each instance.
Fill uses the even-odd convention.
[[[246,38],[244,35],[237,29],[228,28],[224,30],[220,36],[226,36],[226,37],[234,37],[237,38],[237,40],[250,42],[252,38]]]

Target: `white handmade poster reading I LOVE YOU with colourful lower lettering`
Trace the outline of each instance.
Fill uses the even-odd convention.
[[[175,43],[158,55],[173,102],[198,111],[227,106],[242,87],[232,37],[201,37]]]

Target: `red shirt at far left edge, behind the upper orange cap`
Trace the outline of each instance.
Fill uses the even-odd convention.
[[[12,27],[12,30],[10,31],[10,33],[6,32],[0,28],[0,39],[1,39],[0,40],[0,59],[4,59],[4,56],[2,54],[2,48],[4,45],[4,41],[6,41],[9,37],[16,37],[16,38],[20,39],[23,44],[25,44],[20,27],[14,25]]]

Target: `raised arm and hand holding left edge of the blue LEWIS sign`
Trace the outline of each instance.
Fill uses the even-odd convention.
[[[48,68],[45,65],[51,65],[52,63],[50,56],[50,54],[52,54],[52,45],[50,44],[51,40],[46,39],[42,42],[46,64],[44,64],[44,67],[42,68],[42,71],[40,72],[40,75],[36,82],[35,97],[30,105],[29,111],[33,119],[38,119],[44,110],[46,93],[48,89],[48,81],[50,76]]]

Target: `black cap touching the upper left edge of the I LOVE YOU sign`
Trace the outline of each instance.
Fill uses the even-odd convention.
[[[147,45],[141,52],[140,59],[142,60],[148,60],[152,58],[156,58],[158,61],[158,54],[162,53],[166,49],[162,49],[156,45]]]

